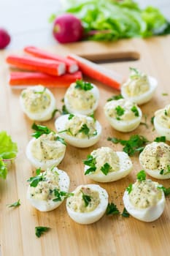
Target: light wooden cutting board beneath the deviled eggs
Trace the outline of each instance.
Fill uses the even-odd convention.
[[[117,91],[96,83],[101,93],[101,100],[96,110],[96,118],[103,127],[102,138],[90,148],[80,149],[67,146],[66,156],[59,168],[66,170],[71,179],[72,191],[80,184],[94,183],[83,175],[82,159],[85,159],[94,148],[110,146],[121,150],[122,146],[107,141],[107,137],[129,138],[131,134],[144,135],[149,140],[156,136],[152,131],[150,118],[155,110],[169,104],[170,74],[170,37],[151,39],[129,39],[120,42],[79,42],[70,45],[56,45],[48,48],[53,53],[77,53],[89,59],[138,59],[102,64],[108,69],[120,72],[125,78],[129,67],[137,67],[148,75],[158,79],[158,89],[150,102],[143,105],[142,111],[147,115],[149,129],[140,125],[134,132],[123,134],[112,129],[104,117],[105,102]],[[17,51],[13,51],[17,53]],[[170,197],[166,198],[163,215],[155,222],[140,222],[133,217],[104,216],[92,225],[79,225],[72,221],[66,213],[65,202],[54,211],[42,213],[36,211],[26,199],[27,179],[34,175],[34,168],[26,159],[26,145],[31,139],[31,124],[22,113],[19,105],[20,90],[12,90],[8,86],[9,69],[5,64],[5,56],[9,52],[0,53],[0,129],[7,130],[12,140],[18,143],[18,157],[9,169],[7,180],[0,181],[1,195],[1,253],[2,256],[114,256],[114,255],[169,255],[170,253]],[[110,60],[112,61],[112,60]],[[52,89],[57,108],[61,108],[66,89]],[[163,96],[168,93],[168,96]],[[57,117],[56,115],[55,117]],[[54,129],[54,119],[42,124]],[[141,170],[138,157],[132,157],[134,170],[120,181],[100,184],[109,193],[109,202],[114,202],[123,211],[123,192],[128,184],[136,180],[136,173]],[[148,176],[149,177],[149,176]],[[170,181],[159,181],[169,187]],[[8,208],[7,203],[14,203],[20,198],[21,206]],[[51,227],[48,233],[36,238],[34,227]]]

